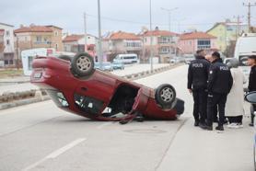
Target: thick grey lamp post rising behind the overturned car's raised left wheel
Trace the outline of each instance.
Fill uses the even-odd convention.
[[[99,59],[99,68],[102,69],[102,44],[101,44],[101,21],[100,21],[100,0],[98,0],[98,29],[99,29],[99,50],[98,50],[98,59]]]

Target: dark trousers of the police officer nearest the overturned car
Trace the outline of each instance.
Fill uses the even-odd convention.
[[[193,117],[202,123],[206,120],[207,93],[204,89],[192,90]]]

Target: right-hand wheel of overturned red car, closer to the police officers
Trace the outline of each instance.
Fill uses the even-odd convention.
[[[156,89],[155,98],[157,104],[164,109],[173,107],[173,103],[176,100],[176,91],[172,85],[164,84],[159,85]]]

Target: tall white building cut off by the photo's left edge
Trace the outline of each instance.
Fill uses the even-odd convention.
[[[15,66],[15,47],[14,47],[14,26],[0,23],[3,45],[2,55],[0,54],[0,63],[4,63],[5,67]],[[4,50],[3,50],[4,49]],[[2,57],[1,57],[2,56]],[[3,65],[3,64],[2,64]]]

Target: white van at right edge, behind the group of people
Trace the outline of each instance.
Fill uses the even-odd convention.
[[[246,76],[250,74],[247,59],[252,54],[256,54],[256,33],[244,33],[237,41],[235,58],[239,60],[239,65]]]

